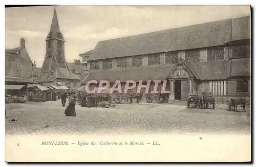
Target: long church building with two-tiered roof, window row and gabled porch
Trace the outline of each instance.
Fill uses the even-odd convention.
[[[82,84],[150,80],[154,88],[154,80],[167,80],[169,102],[207,93],[219,104],[230,97],[250,103],[250,35],[246,16],[99,41]]]

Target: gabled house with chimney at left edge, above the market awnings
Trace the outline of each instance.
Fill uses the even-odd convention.
[[[8,84],[33,83],[39,70],[26,50],[26,41],[20,38],[19,47],[5,50],[5,78]]]

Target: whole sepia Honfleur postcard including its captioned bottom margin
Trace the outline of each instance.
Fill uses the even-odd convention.
[[[6,162],[250,162],[250,13],[5,8]]]

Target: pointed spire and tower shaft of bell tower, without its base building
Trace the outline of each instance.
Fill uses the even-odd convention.
[[[54,7],[52,25],[46,38],[46,55],[42,64],[42,71],[68,68],[65,60],[65,40],[59,30],[59,23]]]

